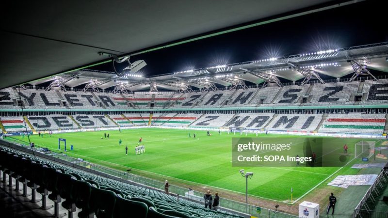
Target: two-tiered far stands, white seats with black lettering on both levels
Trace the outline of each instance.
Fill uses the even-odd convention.
[[[0,91],[0,109],[20,112],[20,106],[23,106],[31,111],[50,109],[52,112],[45,115],[29,113],[26,117],[20,113],[3,112],[0,126],[3,132],[25,131],[26,119],[27,131],[165,126],[381,135],[387,129],[386,112],[374,114],[377,111],[371,110],[361,114],[362,111],[350,111],[357,113],[349,115],[348,112],[336,111],[337,114],[333,114],[333,111],[323,110],[275,112],[269,108],[388,104],[387,84],[388,79],[381,79],[192,93],[97,93],[7,88]],[[247,110],[237,111],[235,108]],[[252,112],[261,108],[265,110]],[[56,109],[74,112],[69,115],[55,112]],[[99,112],[81,112],[96,109]],[[111,109],[117,112],[111,112]],[[223,111],[210,112],[207,109]],[[370,122],[377,118],[378,122]]]

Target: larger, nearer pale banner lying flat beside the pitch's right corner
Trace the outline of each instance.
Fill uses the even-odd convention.
[[[343,188],[349,186],[371,186],[376,178],[376,174],[339,175],[327,185]]]

